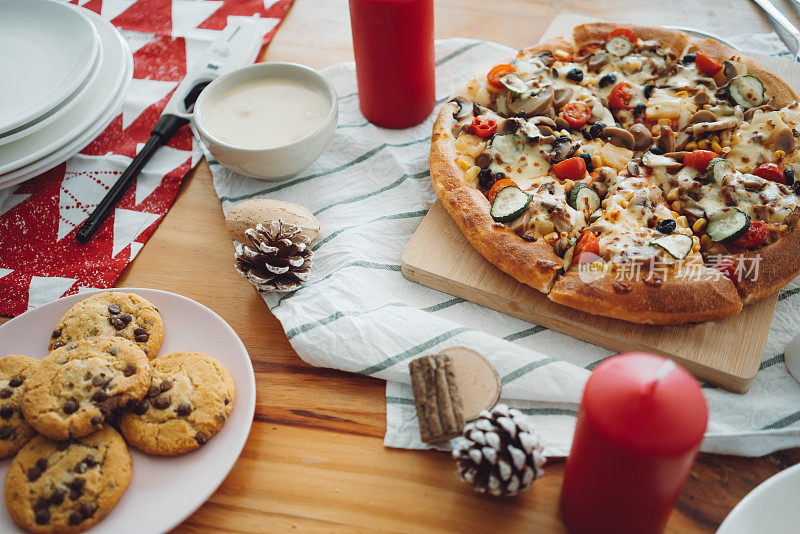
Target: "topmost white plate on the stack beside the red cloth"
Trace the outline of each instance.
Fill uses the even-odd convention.
[[[91,72],[99,45],[82,10],[51,0],[0,0],[0,133],[73,95]]]

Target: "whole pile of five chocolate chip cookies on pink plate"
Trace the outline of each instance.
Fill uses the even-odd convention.
[[[82,532],[127,489],[127,445],[173,456],[222,428],[233,408],[230,373],[205,354],[156,358],[163,338],[155,306],[107,292],[59,320],[44,359],[0,358],[0,458],[16,455],[5,499],[18,525]]]

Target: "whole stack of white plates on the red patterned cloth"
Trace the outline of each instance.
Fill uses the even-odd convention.
[[[77,154],[119,113],[133,75],[120,33],[54,0],[0,0],[0,189]]]

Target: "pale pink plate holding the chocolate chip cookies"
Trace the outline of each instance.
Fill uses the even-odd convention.
[[[236,332],[219,315],[186,297],[154,289],[123,288],[152,302],[164,318],[159,354],[189,350],[209,354],[228,368],[236,386],[225,426],[200,449],[175,457],[148,456],[131,449],[133,477],[117,506],[90,532],[166,532],[202,505],[225,479],[244,447],[256,405],[250,357]],[[5,353],[35,358],[47,354],[49,332],[75,303],[91,293],[72,295],[34,308],[0,326]],[[4,480],[11,460],[0,461]],[[0,532],[22,532],[0,507]]]

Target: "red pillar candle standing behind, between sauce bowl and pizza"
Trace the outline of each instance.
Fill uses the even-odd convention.
[[[433,0],[350,0],[361,112],[408,128],[433,111]]]

